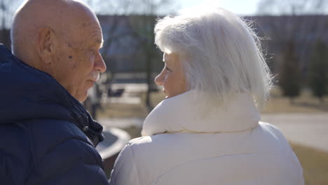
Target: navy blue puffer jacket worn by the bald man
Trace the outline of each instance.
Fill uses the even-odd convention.
[[[102,126],[54,78],[0,46],[0,184],[108,184]]]

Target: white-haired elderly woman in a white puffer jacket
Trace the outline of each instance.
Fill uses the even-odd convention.
[[[143,137],[118,156],[110,184],[303,184],[282,133],[259,122],[271,74],[253,30],[224,9],[159,20],[167,95]]]

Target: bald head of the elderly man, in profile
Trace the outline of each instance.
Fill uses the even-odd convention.
[[[102,29],[81,1],[25,1],[15,14],[11,37],[16,57],[53,76],[81,102],[106,70],[99,53]]]

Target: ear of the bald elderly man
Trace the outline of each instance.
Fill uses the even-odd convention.
[[[45,64],[50,64],[56,53],[56,37],[53,29],[43,28],[39,32],[38,51],[39,56]]]

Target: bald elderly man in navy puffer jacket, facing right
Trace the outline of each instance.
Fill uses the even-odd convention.
[[[102,29],[80,1],[29,0],[0,46],[0,184],[108,184],[102,126],[80,102],[106,70]]]

